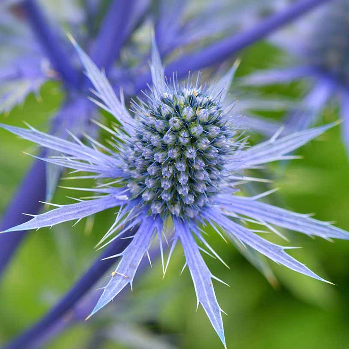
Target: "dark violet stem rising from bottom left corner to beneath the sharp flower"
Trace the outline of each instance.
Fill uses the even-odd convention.
[[[127,232],[125,232],[125,234],[126,233]],[[66,295],[62,297],[46,315],[27,329],[27,331],[16,337],[12,342],[5,345],[2,349],[28,349],[31,348],[33,344],[37,343],[40,337],[50,332],[52,326],[57,324],[57,321],[59,321],[63,315],[74,309],[74,306],[91,290],[92,287],[94,287],[95,283],[101,279],[105,272],[115,263],[115,259],[113,258],[106,260],[101,259],[121,253],[129,243],[129,239],[117,239],[112,242],[95,260],[80,280],[75,283]]]

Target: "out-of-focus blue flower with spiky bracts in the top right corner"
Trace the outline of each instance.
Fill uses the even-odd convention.
[[[339,102],[342,137],[349,149],[349,3],[335,0],[275,33],[270,41],[292,56],[296,64],[257,71],[243,79],[251,86],[265,86],[308,78],[310,91],[284,119],[285,133],[310,127],[333,100]],[[292,61],[292,60],[291,60]],[[256,121],[258,122],[258,121]],[[275,125],[259,128],[270,134]],[[269,131],[269,132],[268,132]]]

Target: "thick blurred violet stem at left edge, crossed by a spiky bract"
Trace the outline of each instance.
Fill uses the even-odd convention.
[[[39,200],[45,200],[45,183],[45,163],[35,161],[3,215],[0,231],[28,221],[30,217],[23,213],[37,214],[39,212],[42,206]],[[26,231],[0,234],[0,275],[25,234]]]

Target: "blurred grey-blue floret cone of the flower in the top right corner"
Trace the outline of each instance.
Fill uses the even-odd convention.
[[[316,22],[307,59],[345,84],[349,83],[349,1],[329,4]]]

